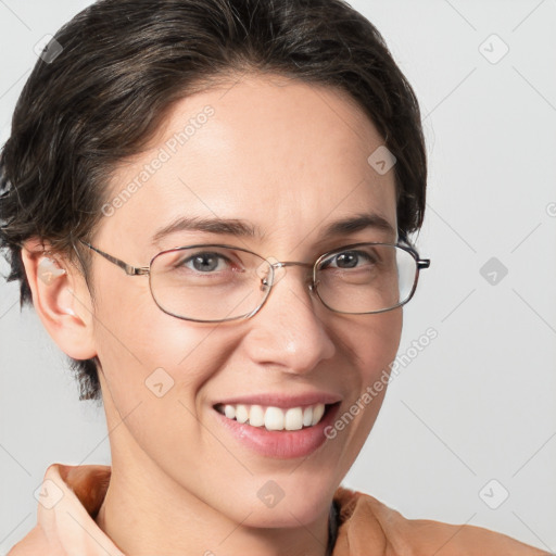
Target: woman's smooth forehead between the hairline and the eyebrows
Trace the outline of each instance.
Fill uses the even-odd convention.
[[[180,220],[237,219],[256,242],[293,249],[333,220],[371,213],[387,239],[383,224],[396,229],[394,172],[368,163],[382,144],[343,91],[243,76],[173,106],[149,148],[116,169],[106,202],[117,207],[99,235],[168,248],[193,233]]]

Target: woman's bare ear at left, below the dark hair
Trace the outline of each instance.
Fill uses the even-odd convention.
[[[37,238],[24,243],[22,261],[35,311],[54,342],[74,359],[94,357],[93,306],[81,273]]]

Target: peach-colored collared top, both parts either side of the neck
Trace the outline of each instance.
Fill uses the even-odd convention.
[[[8,556],[125,556],[97,526],[111,467],[53,464],[45,473],[35,528]],[[547,556],[509,536],[473,526],[405,519],[359,492],[339,488],[332,556]]]

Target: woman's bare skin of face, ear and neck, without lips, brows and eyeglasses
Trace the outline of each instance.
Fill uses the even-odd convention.
[[[314,262],[344,244],[396,240],[378,229],[321,240],[327,224],[362,208],[397,229],[393,170],[381,176],[367,163],[383,140],[351,98],[276,75],[248,74],[228,89],[178,102],[149,149],[117,168],[113,195],[189,118],[214,108],[148,184],[102,219],[96,247],[148,266],[159,251],[195,242]],[[243,218],[264,237],[179,231],[151,244],[156,229],[182,215]],[[218,425],[212,406],[232,395],[319,390],[342,399],[342,415],[395,357],[402,309],[330,312],[306,288],[305,270],[288,267],[252,318],[193,323],[160,311],[147,277],[126,276],[97,254],[94,301],[63,256],[66,274],[46,285],[37,279],[41,253],[38,240],[24,250],[40,318],[65,353],[102,364],[113,470],[100,528],[130,556],[324,555],[333,493],[386,390],[336,439],[298,459],[250,451]],[[174,379],[162,397],[144,384],[159,367]],[[273,508],[257,497],[268,480],[285,492]]]

